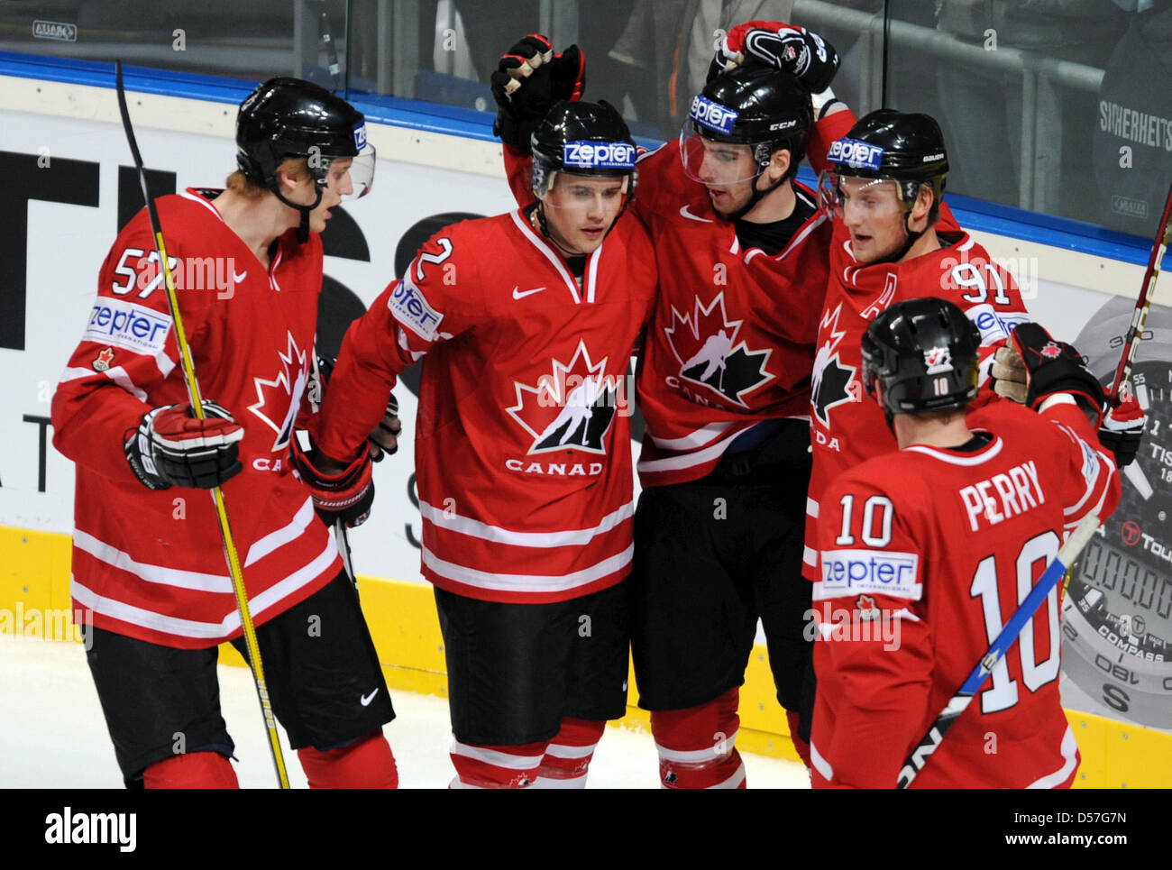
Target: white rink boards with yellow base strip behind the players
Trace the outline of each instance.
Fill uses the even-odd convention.
[[[136,87],[134,81],[130,87]],[[177,190],[222,184],[232,169],[232,124],[240,94],[225,87],[222,95],[195,96],[135,93],[131,100],[148,166],[173,174]],[[0,197],[12,198],[4,203],[6,213],[23,216],[28,229],[23,251],[9,251],[4,258],[6,290],[0,298],[5,306],[0,320],[11,325],[19,313],[23,326],[20,335],[8,327],[0,344],[7,375],[0,379],[0,443],[6,447],[0,456],[2,631],[16,625],[18,610],[27,617],[69,607],[73,465],[48,443],[49,401],[84,326],[120,205],[131,202],[135,182],[131,177],[128,184],[125,170],[120,171],[130,158],[109,87],[0,74],[0,109],[5,111],[0,169],[7,169],[8,177],[21,177],[25,193],[21,198],[5,190]],[[394,277],[396,249],[422,240],[420,222],[447,212],[492,215],[513,206],[499,145],[484,141],[483,122],[477,129],[472,123],[390,109],[382,120],[386,123],[368,127],[380,157],[374,193],[350,204],[348,235],[327,245],[326,274],[363,306]],[[52,175],[62,168],[68,170],[68,183]],[[963,213],[961,222],[969,223]],[[1040,242],[1008,230],[975,235],[1017,274],[1030,312],[1067,340],[1113,294],[1132,295],[1143,272],[1134,257],[1126,263],[1110,251],[1071,251],[1054,239]],[[447,687],[442,639],[431,589],[418,575],[421,523],[410,435],[416,402],[409,388],[401,387],[396,395],[404,437],[398,455],[375,469],[375,512],[355,530],[352,544],[363,609],[388,682],[442,695]],[[209,546],[218,548],[219,542],[209,541]],[[226,654],[238,660],[231,648]],[[632,705],[635,696],[632,688]],[[1172,786],[1172,735],[1108,715],[1068,715],[1083,754],[1078,784]],[[646,725],[646,716],[628,707],[628,722]],[[763,646],[755,648],[750,661],[741,716],[745,748],[795,757]]]

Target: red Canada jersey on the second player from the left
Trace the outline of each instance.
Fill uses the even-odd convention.
[[[631,349],[655,294],[620,219],[581,284],[516,211],[437,233],[346,335],[318,446],[355,455],[423,362],[415,465],[423,575],[458,594],[559,601],[631,570]]]

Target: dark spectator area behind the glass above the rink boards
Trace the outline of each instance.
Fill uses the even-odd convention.
[[[1154,231],[1172,181],[1172,0],[0,0],[0,50],[490,111],[497,59],[537,30],[581,46],[588,98],[666,140],[721,28],[754,18],[830,40],[857,115],[936,117],[950,192]],[[76,40],[34,38],[34,21]]]

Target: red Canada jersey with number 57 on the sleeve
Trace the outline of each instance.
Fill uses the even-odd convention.
[[[282,236],[266,271],[202,192],[157,200],[205,399],[244,427],[244,470],[224,497],[260,624],[341,571],[287,460],[312,363],[321,240]],[[53,399],[53,443],[76,463],[74,606],[101,628],[198,648],[240,634],[210,492],[146,489],[123,455],[154,407],[188,401],[145,210],[98,277],[81,344]]]

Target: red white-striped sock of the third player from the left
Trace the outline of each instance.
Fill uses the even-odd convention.
[[[744,764],[736,750],[740,688],[688,709],[652,713],[663,788],[744,788]]]

